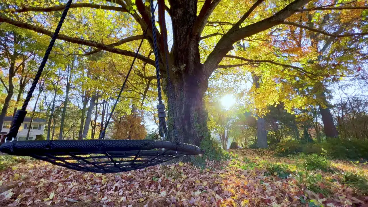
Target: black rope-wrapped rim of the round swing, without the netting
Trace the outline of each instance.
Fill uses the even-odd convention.
[[[42,141],[14,141],[3,143],[0,151],[9,155],[29,156],[30,154],[68,155],[114,152],[114,151],[147,151],[165,149],[184,152],[187,155],[198,155],[202,151],[192,144],[174,141],[154,140],[42,140]]]

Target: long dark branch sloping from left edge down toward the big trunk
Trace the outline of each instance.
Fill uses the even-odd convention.
[[[8,24],[11,24],[11,25],[14,25],[14,26],[17,26],[17,27],[20,27],[20,28],[24,28],[24,29],[29,29],[29,30],[32,30],[32,31],[35,31],[35,32],[38,32],[38,33],[41,33],[41,34],[44,34],[44,35],[47,35],[47,36],[50,36],[50,37],[53,35],[53,32],[48,31],[46,29],[36,27],[36,26],[33,26],[31,24],[27,24],[27,23],[24,23],[24,22],[12,20],[10,18],[1,16],[1,15],[0,15],[0,22],[6,22]],[[128,51],[128,50],[122,50],[122,49],[118,49],[118,48],[113,48],[113,47],[110,47],[110,46],[107,46],[107,45],[104,45],[102,43],[98,43],[98,42],[95,42],[95,41],[79,39],[79,38],[73,38],[73,37],[66,36],[66,35],[61,35],[61,34],[59,34],[57,36],[57,39],[61,39],[61,40],[67,41],[67,42],[77,43],[79,45],[86,45],[86,46],[91,46],[91,47],[103,49],[103,50],[106,50],[106,51],[109,51],[109,52],[112,52],[112,53],[116,53],[116,54],[120,54],[120,55],[125,55],[125,56],[130,56],[130,57],[135,56],[135,52]],[[138,55],[137,59],[142,60],[143,62],[146,62],[148,64],[155,65],[155,61],[153,61],[153,60],[151,60],[151,59],[149,59],[145,56]]]

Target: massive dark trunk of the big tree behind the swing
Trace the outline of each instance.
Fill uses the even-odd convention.
[[[170,140],[199,145],[204,137],[209,137],[203,95],[207,90],[210,74],[201,64],[198,43],[200,37],[192,35],[197,3],[172,1],[170,10],[175,41],[171,49],[170,64],[173,91],[167,91],[171,100],[167,137]],[[176,137],[175,130],[178,132]]]

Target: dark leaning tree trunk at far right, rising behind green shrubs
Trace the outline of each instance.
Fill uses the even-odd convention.
[[[321,112],[323,128],[325,130],[326,138],[337,138],[339,134],[337,133],[336,126],[333,123],[332,114],[330,112],[330,106],[327,102],[325,92],[322,91],[318,98],[325,103],[326,107],[319,105],[319,111]]]

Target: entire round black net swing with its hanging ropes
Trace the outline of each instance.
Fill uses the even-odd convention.
[[[77,171],[96,172],[96,173],[112,173],[124,172],[135,169],[146,168],[160,164],[162,162],[170,161],[181,157],[183,155],[197,155],[201,154],[199,147],[191,144],[164,141],[166,128],[166,112],[165,106],[162,102],[161,85],[160,85],[160,71],[159,71],[159,53],[157,46],[157,28],[155,26],[155,7],[153,7],[153,0],[151,0],[151,20],[152,20],[152,35],[153,48],[155,54],[155,67],[158,90],[158,117],[159,117],[159,134],[161,141],[153,140],[106,140],[105,131],[112,113],[117,105],[118,99],[124,90],[128,76],[134,65],[135,59],[142,46],[144,38],[137,49],[137,53],[133,59],[130,70],[125,77],[123,86],[117,96],[113,105],[112,112],[107,119],[106,125],[98,140],[45,140],[45,141],[17,141],[18,130],[26,116],[26,108],[32,97],[33,91],[36,88],[38,80],[42,74],[43,68],[47,62],[53,45],[57,39],[60,28],[63,25],[64,19],[68,13],[72,0],[68,0],[64,11],[61,15],[60,21],[55,29],[55,32],[50,40],[50,44],[45,52],[45,56],[39,66],[37,74],[32,82],[25,101],[20,110],[17,110],[13,117],[11,128],[6,137],[6,142],[0,146],[0,151],[9,155],[29,156],[43,161],[50,162],[55,165],[64,166],[66,168]],[[156,5],[157,6],[157,5]],[[144,32],[144,37],[148,27]],[[163,32],[163,35],[164,32]],[[165,39],[165,38],[164,38]],[[166,51],[166,44],[165,51]],[[168,74],[168,87],[171,90],[171,81],[169,76],[169,68],[166,58],[166,70]],[[172,91],[172,90],[171,90]],[[176,132],[175,132],[176,133]]]

